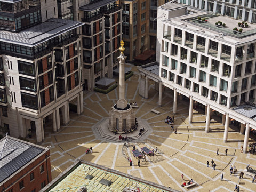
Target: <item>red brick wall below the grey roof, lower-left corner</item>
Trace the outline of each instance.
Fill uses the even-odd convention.
[[[13,176],[6,180],[4,183],[5,191],[9,191],[13,189],[13,191],[20,191],[19,183],[23,180],[24,188],[21,191],[30,192],[31,190],[36,188],[36,191],[41,190],[41,183],[45,180],[45,184],[47,185],[52,180],[51,175],[51,162],[50,158],[47,159],[47,166],[46,166],[46,159],[45,155],[49,156],[50,151],[43,153],[34,162],[30,162],[26,167],[23,167],[17,174],[13,174]],[[44,171],[40,173],[40,166],[44,164]],[[48,178],[47,179],[47,169],[48,169]],[[34,169],[35,168],[35,169]],[[30,182],[30,173],[34,172],[35,179]],[[25,175],[25,177],[23,177]],[[2,191],[3,186],[0,187],[0,191]]]

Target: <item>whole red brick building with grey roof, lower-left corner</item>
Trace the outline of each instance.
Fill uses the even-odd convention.
[[[52,180],[50,149],[10,136],[0,140],[0,190],[39,191]]]

